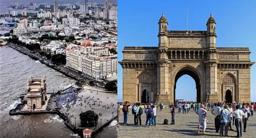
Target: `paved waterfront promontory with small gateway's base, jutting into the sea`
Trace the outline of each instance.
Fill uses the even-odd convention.
[[[36,88],[34,85],[38,83],[37,81],[39,81],[39,79],[31,77],[28,81],[30,81],[30,83],[27,83],[27,85]],[[44,77],[41,81],[44,81]],[[42,98],[45,98],[46,103],[42,105],[40,109],[37,109],[39,105],[38,102],[33,102],[35,99],[34,96],[33,100],[31,99],[31,103],[29,103],[29,96],[27,95],[31,91],[34,93],[33,95],[39,95],[35,94],[34,89],[28,89],[26,94],[21,94],[21,101],[15,101],[15,109],[9,111],[10,115],[30,115],[39,113],[57,114],[64,120],[64,124],[81,138],[83,138],[83,130],[85,129],[92,130],[92,135],[94,135],[111,122],[116,122],[114,120],[117,118],[117,114],[114,111],[116,111],[115,107],[117,107],[117,95],[114,93],[100,92],[92,86],[76,82],[65,87],[63,90],[57,90],[51,93],[45,91],[46,97]],[[41,91],[41,93],[42,92],[43,91]],[[41,95],[44,96],[43,93]],[[25,100],[25,98],[27,98],[27,100]],[[81,127],[79,114],[88,110],[92,110],[99,115],[97,123],[95,123],[96,125],[93,127]]]

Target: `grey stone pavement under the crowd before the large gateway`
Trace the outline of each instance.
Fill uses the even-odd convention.
[[[120,107],[122,108],[122,107]],[[144,108],[143,108],[144,111]],[[176,109],[178,112],[178,109]],[[164,125],[164,119],[168,119],[171,123],[170,108],[164,108],[160,112],[157,108],[156,113],[156,126],[145,127],[146,116],[145,113],[141,116],[142,126],[134,126],[134,115],[132,115],[131,108],[129,108],[129,116],[127,124],[123,124],[124,117],[121,109],[121,116],[119,117],[120,128],[118,128],[118,138],[219,138],[219,133],[215,132],[214,116],[210,111],[207,111],[207,128],[206,134],[203,130],[197,134],[198,130],[198,115],[195,111],[189,113],[176,113],[175,125]],[[235,126],[231,124],[232,128],[236,130]],[[247,132],[243,133],[243,138],[256,138],[256,116],[250,116],[247,122]],[[237,135],[235,131],[228,131],[230,137]]]

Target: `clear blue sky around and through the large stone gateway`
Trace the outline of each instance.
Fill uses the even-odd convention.
[[[206,30],[212,13],[217,22],[218,47],[249,47],[256,61],[256,1],[118,0],[118,61],[124,46],[157,46],[158,21],[164,12],[168,30]],[[251,100],[256,101],[256,64],[251,68]],[[186,93],[186,94],[184,94]],[[176,98],[195,101],[195,81],[188,75],[178,79]],[[118,64],[118,101],[122,99],[122,67]]]

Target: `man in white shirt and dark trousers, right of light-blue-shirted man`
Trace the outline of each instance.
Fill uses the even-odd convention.
[[[243,135],[243,123],[245,122],[244,115],[242,110],[239,110],[239,105],[235,106],[233,116],[235,117],[235,127],[237,128],[237,137],[240,138]]]

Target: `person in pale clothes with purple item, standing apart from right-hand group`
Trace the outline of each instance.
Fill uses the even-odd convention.
[[[199,130],[200,130],[200,127],[203,128],[203,134],[205,134],[205,129],[206,129],[206,118],[207,118],[207,111],[205,109],[205,105],[201,104],[200,106],[201,108],[199,108],[197,111],[196,111],[196,114],[199,116],[199,125],[198,125],[198,132],[199,133]]]

